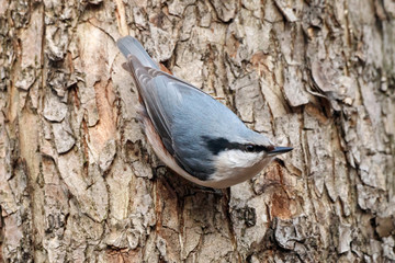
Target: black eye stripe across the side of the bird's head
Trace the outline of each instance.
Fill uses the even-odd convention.
[[[230,142],[224,138],[210,138],[208,136],[202,136],[202,139],[206,142],[206,147],[213,155],[218,155],[221,151],[228,150],[241,150],[246,152],[261,152],[270,151],[270,147],[251,145],[251,144],[238,144]]]

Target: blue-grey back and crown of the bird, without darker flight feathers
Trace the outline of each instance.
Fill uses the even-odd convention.
[[[204,180],[214,172],[206,139],[240,141],[250,130],[224,104],[196,88],[168,76],[151,81],[148,88],[159,99],[176,159],[189,173]]]

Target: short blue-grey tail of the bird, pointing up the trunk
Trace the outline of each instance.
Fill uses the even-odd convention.
[[[142,62],[143,66],[159,69],[158,65],[151,59],[142,44],[133,36],[125,36],[117,39],[116,45],[126,58],[129,55],[133,55]]]

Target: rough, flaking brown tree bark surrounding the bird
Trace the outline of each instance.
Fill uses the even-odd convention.
[[[114,41],[295,149],[211,193],[160,168]],[[0,0],[0,261],[395,261],[393,0]]]

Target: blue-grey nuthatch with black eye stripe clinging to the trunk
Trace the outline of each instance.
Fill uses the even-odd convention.
[[[249,129],[227,106],[160,69],[132,36],[116,42],[138,91],[137,114],[157,157],[184,179],[226,188],[257,175],[291,151]]]

